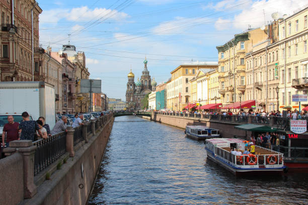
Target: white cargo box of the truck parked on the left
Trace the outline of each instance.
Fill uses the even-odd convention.
[[[25,111],[33,120],[44,117],[51,130],[55,125],[54,86],[36,81],[0,82],[0,115]]]

